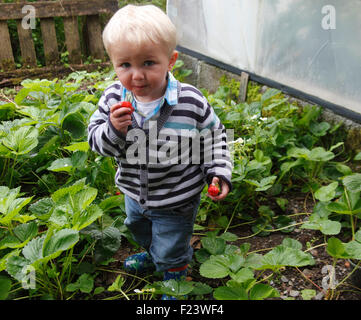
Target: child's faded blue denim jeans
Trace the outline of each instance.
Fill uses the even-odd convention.
[[[183,267],[192,260],[190,240],[199,203],[200,195],[179,208],[145,210],[125,196],[124,224],[149,252],[157,271]]]

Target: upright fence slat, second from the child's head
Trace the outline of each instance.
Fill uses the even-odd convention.
[[[81,48],[77,17],[66,17],[64,21],[65,43],[68,50],[69,63],[81,62]]]

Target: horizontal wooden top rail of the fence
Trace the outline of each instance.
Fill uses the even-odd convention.
[[[28,2],[35,8],[36,18],[73,17],[113,14],[118,10],[117,0],[72,0],[72,1],[38,1]],[[22,19],[24,3],[0,3],[0,20]]]

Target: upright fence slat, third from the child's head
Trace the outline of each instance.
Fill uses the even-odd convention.
[[[49,66],[59,63],[58,43],[56,41],[54,19],[41,19],[40,28],[44,44],[44,56],[46,65]]]

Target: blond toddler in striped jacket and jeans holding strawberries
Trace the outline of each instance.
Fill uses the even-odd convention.
[[[103,42],[118,81],[104,90],[88,141],[93,151],[115,158],[124,223],[145,249],[128,257],[124,268],[179,280],[192,259],[190,239],[205,184],[219,185],[218,195],[207,195],[214,201],[231,190],[226,131],[202,93],[172,75],[176,28],[161,9],[119,9]]]

